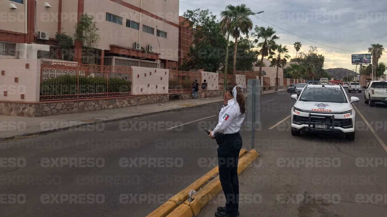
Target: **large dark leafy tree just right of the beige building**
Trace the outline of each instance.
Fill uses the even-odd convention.
[[[209,10],[187,10],[184,12],[185,22],[193,32],[193,44],[188,56],[180,69],[188,71],[192,68],[217,72],[224,67],[227,40],[216,20]]]

